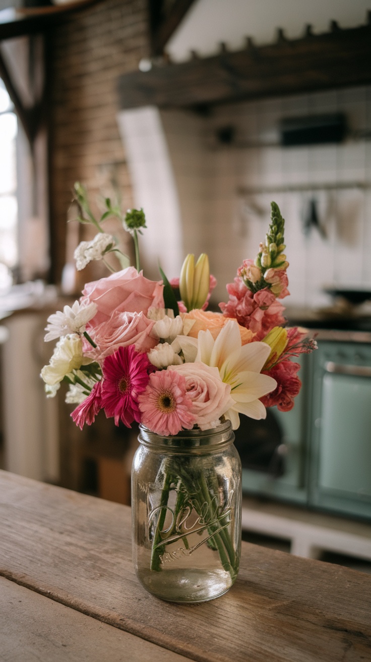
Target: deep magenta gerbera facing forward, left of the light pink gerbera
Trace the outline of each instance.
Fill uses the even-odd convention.
[[[134,420],[140,422],[138,396],[147,386],[149,367],[147,355],[138,354],[134,345],[120,347],[104,359],[102,406],[115,425],[122,420],[131,428]]]

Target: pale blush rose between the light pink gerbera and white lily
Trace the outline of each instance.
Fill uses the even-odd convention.
[[[231,386],[222,381],[217,367],[197,362],[169,365],[167,369],[185,377],[186,393],[192,402],[190,413],[201,430],[215,428],[220,416],[235,404]]]

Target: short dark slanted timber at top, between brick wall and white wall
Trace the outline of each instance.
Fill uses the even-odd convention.
[[[163,0],[149,0],[149,26],[151,32],[151,51],[153,56],[163,54],[165,45],[194,0],[174,0],[166,11]]]

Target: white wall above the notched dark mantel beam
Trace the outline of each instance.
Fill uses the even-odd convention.
[[[302,36],[310,23],[313,32],[327,32],[331,20],[343,28],[364,24],[371,0],[197,0],[169,40],[166,50],[179,62],[190,50],[214,54],[220,42],[231,50],[243,48],[246,36],[257,44],[272,42],[278,27],[288,38]]]

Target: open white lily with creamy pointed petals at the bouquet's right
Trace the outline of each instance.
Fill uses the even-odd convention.
[[[209,330],[198,334],[196,361],[218,367],[224,383],[231,385],[235,404],[224,414],[233,430],[239,426],[239,413],[250,418],[266,418],[267,411],[259,400],[276,388],[276,380],[261,375],[261,369],[270,354],[264,342],[241,344],[241,335],[235,320],[229,320],[214,340]]]

